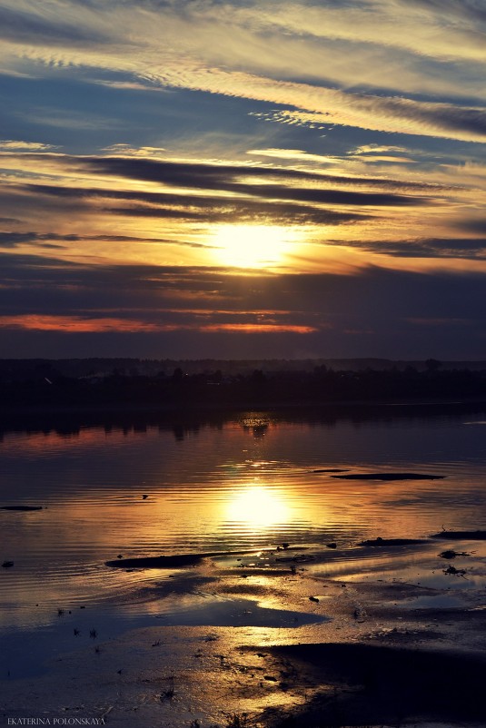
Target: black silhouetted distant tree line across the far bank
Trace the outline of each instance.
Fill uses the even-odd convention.
[[[486,369],[441,369],[429,359],[424,370],[254,369],[227,376],[221,369],[188,374],[177,367],[143,375],[123,373],[66,377],[44,362],[25,379],[0,378],[0,404],[6,406],[150,405],[152,407],[275,406],[339,401],[380,402],[485,398]]]

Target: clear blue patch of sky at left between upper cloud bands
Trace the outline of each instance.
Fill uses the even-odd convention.
[[[251,143],[262,132],[249,111],[270,106],[198,91],[151,93],[72,78],[11,76],[0,77],[0,103],[4,139],[55,144],[71,153],[91,153],[115,143],[164,147],[207,133],[243,134]]]

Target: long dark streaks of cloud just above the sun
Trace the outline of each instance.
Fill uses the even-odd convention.
[[[59,157],[56,157],[59,160]],[[330,189],[319,175],[293,170],[245,165],[213,165],[123,157],[62,157],[62,163],[82,165],[96,175],[110,174],[131,181],[159,182],[183,188],[184,192],[147,192],[60,185],[25,184],[9,188],[9,194],[31,192],[37,197],[66,200],[69,207],[82,209],[84,201],[119,200],[125,206],[104,205],[104,212],[129,217],[153,217],[204,222],[269,220],[279,224],[339,224],[370,216],[377,207],[418,206],[430,199],[394,192],[356,192]],[[252,178],[256,177],[256,182]],[[281,182],[274,182],[275,177]],[[283,182],[312,182],[312,187]],[[268,180],[268,182],[266,182]],[[273,182],[271,182],[273,181]],[[319,184],[319,186],[317,186]],[[187,192],[185,192],[187,191]],[[197,191],[197,192],[194,192]],[[200,194],[199,191],[213,192]],[[224,194],[223,194],[224,193]],[[228,195],[231,194],[231,196]],[[19,200],[22,203],[21,200]],[[39,201],[36,201],[39,205]],[[51,202],[52,204],[52,202]],[[324,207],[326,206],[326,207]],[[334,209],[329,209],[329,207]],[[357,208],[356,212],[340,207]],[[337,209],[336,209],[337,208]],[[100,207],[97,208],[100,210]],[[12,244],[12,243],[11,243]]]

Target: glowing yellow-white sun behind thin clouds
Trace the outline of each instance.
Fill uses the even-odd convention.
[[[218,225],[213,232],[217,261],[237,268],[282,263],[296,241],[296,232],[280,225]]]

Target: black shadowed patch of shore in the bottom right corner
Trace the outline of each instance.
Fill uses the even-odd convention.
[[[276,721],[278,728],[344,724],[372,728],[401,725],[409,716],[414,716],[415,725],[424,719],[465,725],[486,716],[479,699],[486,679],[481,651],[322,643],[279,645],[269,652],[292,659],[301,670],[313,668],[315,682],[322,684],[322,692]],[[329,684],[333,694],[325,690]]]

